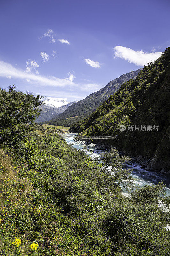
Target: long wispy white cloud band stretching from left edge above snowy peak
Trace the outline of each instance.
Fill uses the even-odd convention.
[[[16,66],[14,67],[10,63],[0,61],[0,77],[8,77],[9,79],[12,79],[12,82],[14,83],[14,79],[27,81],[27,83],[29,83],[29,86],[43,86],[44,88],[49,88],[49,86],[57,87],[58,90],[56,90],[55,93],[53,92],[53,97],[62,97],[64,95],[65,97],[70,98],[72,95],[72,97],[78,98],[80,94],[83,95],[83,92],[89,94],[89,92],[94,92],[102,88],[102,85],[89,81],[77,84],[73,81],[75,76],[70,72],[68,73],[68,75],[68,78],[63,79],[55,76],[41,76],[32,72],[27,73],[25,70],[16,68]],[[67,87],[67,90],[63,91],[63,87]],[[44,89],[42,89],[41,91],[43,92],[43,90]],[[61,93],[60,90],[62,90]],[[82,96],[79,98],[82,99]]]

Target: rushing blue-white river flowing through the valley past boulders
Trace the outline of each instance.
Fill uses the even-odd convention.
[[[72,145],[73,148],[82,150],[83,144],[75,142],[73,139],[77,136],[77,133],[65,133],[64,139],[66,140],[67,144]],[[88,147],[86,148],[86,154],[90,155],[91,158],[99,157],[100,153],[104,152],[104,150],[98,150],[95,148]],[[168,185],[170,184],[170,177],[162,174],[160,172],[154,171],[147,171],[141,168],[141,165],[138,163],[132,163],[131,165],[127,164],[127,168],[132,169],[131,175],[135,179],[135,185],[139,187],[144,187],[145,185],[152,185],[157,184],[160,181],[163,181],[165,184],[165,192],[166,196],[170,196],[170,188]],[[122,191],[127,193],[127,191],[122,186]]]

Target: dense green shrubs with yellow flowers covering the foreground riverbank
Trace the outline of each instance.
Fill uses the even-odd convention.
[[[2,255],[170,253],[164,228],[169,214],[156,204],[162,185],[137,189],[132,199],[124,198],[119,184],[132,182],[130,171],[122,169],[129,159],[115,148],[102,154],[101,161],[92,160],[49,129],[41,137],[30,133],[6,150],[14,165],[0,153]],[[15,238],[21,239],[17,248]],[[30,247],[33,243],[36,250]]]

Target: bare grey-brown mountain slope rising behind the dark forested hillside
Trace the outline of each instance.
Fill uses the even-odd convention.
[[[134,79],[140,70],[141,69],[131,71],[110,81],[104,88],[90,94],[85,99],[72,104],[62,114],[53,117],[50,121],[46,122],[46,124],[69,127],[77,121],[87,118],[106,99],[108,99],[110,95],[115,93],[124,82]],[[59,113],[58,111],[56,112]],[[45,124],[45,122],[41,124]]]

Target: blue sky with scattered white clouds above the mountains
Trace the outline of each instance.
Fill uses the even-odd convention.
[[[169,0],[0,0],[0,87],[81,100],[170,46]]]

